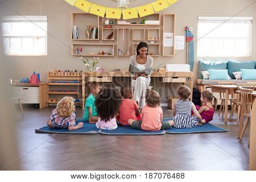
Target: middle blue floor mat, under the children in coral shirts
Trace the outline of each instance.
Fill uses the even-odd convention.
[[[160,131],[143,131],[139,129],[134,129],[133,127],[118,126],[115,130],[101,130],[100,134],[103,135],[163,135],[165,132]]]

